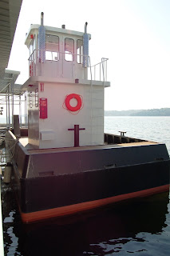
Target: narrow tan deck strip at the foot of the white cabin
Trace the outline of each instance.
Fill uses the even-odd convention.
[[[52,149],[35,149],[28,143],[28,137],[20,138],[19,142],[22,143],[22,146],[29,151],[30,154],[38,153],[43,154],[46,150],[48,152],[70,152],[70,151],[77,151],[80,150],[102,150],[102,149],[109,149],[113,147],[122,147],[122,146],[146,146],[146,145],[154,145],[158,144],[157,142],[131,142],[131,143],[121,143],[121,144],[106,144],[105,145],[97,145],[97,146],[79,146],[79,147],[63,147],[63,148],[52,148]]]

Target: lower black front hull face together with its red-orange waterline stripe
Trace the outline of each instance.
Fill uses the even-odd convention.
[[[161,175],[161,169],[166,169],[164,175]],[[72,214],[128,198],[161,193],[169,188],[169,185],[164,185],[168,178],[167,162],[160,162],[58,177],[22,179],[22,218],[28,222],[43,218],[43,215],[49,218],[48,214],[52,214],[51,217]],[[43,212],[42,217],[40,213],[28,214],[48,209],[55,210]]]

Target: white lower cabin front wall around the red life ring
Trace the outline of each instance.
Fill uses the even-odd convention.
[[[83,108],[77,114],[65,107],[66,95],[73,93],[83,97]],[[104,143],[103,86],[92,89],[89,85],[45,82],[44,91],[39,89],[39,98],[47,98],[48,102],[48,118],[39,119],[40,148],[73,146],[74,134],[68,129],[74,125],[85,128],[80,130],[80,146]]]

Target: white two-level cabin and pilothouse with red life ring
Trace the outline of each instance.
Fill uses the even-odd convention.
[[[74,130],[69,130],[75,125],[79,146],[104,144],[107,59],[90,65],[86,30],[87,23],[85,33],[43,26],[43,20],[41,26],[30,26],[30,78],[23,89],[28,91],[29,143],[34,148],[75,146]]]

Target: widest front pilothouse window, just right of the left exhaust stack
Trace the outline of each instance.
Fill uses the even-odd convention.
[[[54,62],[59,59],[59,38],[56,35],[46,34],[45,59]]]

